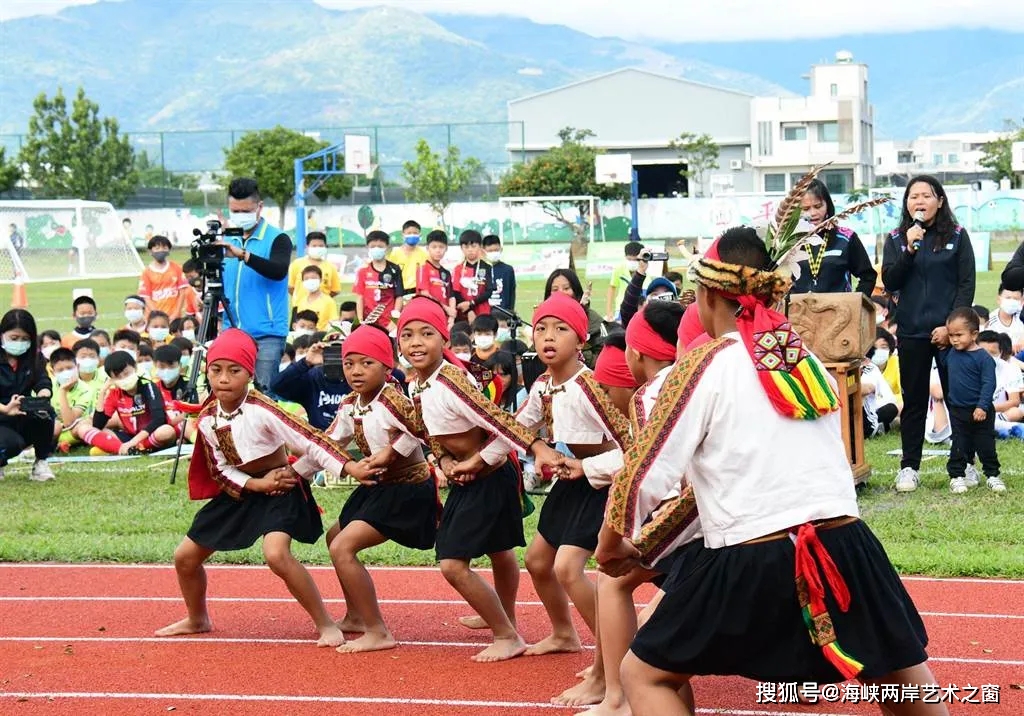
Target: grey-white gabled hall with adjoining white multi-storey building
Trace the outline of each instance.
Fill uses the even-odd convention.
[[[839,53],[811,69],[806,97],[755,97],[647,70],[627,68],[513,99],[507,149],[514,161],[557,146],[563,127],[590,129],[588,143],[630,154],[640,194],[651,198],[785,192],[812,166],[834,193],[873,180],[867,68]],[[520,124],[521,123],[521,124]],[[670,149],[683,132],[710,134],[719,167],[689,186],[685,160]],[[701,191],[702,189],[702,191]]]

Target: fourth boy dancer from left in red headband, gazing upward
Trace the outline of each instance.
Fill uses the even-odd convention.
[[[547,366],[516,420],[544,429],[551,443],[568,447],[529,549],[526,568],[551,620],[552,633],[526,649],[529,656],[580,651],[569,600],[597,634],[597,591],[587,578],[587,560],[597,547],[611,477],[622,469],[629,420],[611,403],[594,374],[580,361],[587,342],[587,311],[563,293],[553,293],[534,311],[534,347]],[[564,706],[596,704],[604,694],[601,662],[583,683],[552,701]]]

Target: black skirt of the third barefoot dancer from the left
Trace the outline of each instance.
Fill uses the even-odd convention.
[[[437,559],[475,559],[526,546],[519,472],[511,461],[472,482],[449,485],[437,528]]]

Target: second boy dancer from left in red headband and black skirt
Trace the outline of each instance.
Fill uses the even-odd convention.
[[[348,615],[339,625],[362,636],[338,647],[342,654],[393,648],[373,580],[358,553],[388,540],[430,549],[437,535],[437,483],[423,459],[413,403],[389,381],[394,369],[391,339],[375,325],[355,329],[342,343],[342,369],[352,392],[342,399],[327,435],[341,446],[355,441],[366,457],[349,461],[345,473],[359,481],[338,521],[328,530]]]

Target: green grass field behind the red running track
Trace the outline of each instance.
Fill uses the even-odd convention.
[[[183,260],[184,256],[176,256]],[[978,277],[977,301],[994,304],[998,273]],[[607,284],[595,282],[595,303],[603,307]],[[69,281],[29,286],[30,310],[40,330],[69,330],[73,288],[92,288],[101,327],[123,324],[125,295],[134,280]],[[528,318],[543,284],[524,282],[519,310]],[[984,488],[954,496],[946,488],[942,458],[923,465],[922,488],[910,495],[892,490],[898,458],[898,435],[867,445],[873,475],[860,492],[865,520],[876,531],[897,567],[906,574],[1024,578],[1024,445],[1000,441],[999,457],[1009,493]],[[184,468],[184,464],[182,468]],[[14,463],[0,482],[0,560],[166,562],[190,523],[199,503],[187,499],[184,469],[169,485],[171,465],[155,458],[125,462],[56,465],[57,479],[39,485],[27,480],[28,464]],[[325,521],[333,520],[348,490],[318,490]],[[541,499],[537,499],[540,507]],[[537,513],[526,522],[527,541]],[[297,545],[296,553],[311,563],[325,563],[323,543]],[[521,556],[521,555],[520,555]],[[381,564],[431,564],[431,552],[394,545],[372,550],[368,558]],[[219,561],[259,562],[258,548],[220,554]]]

